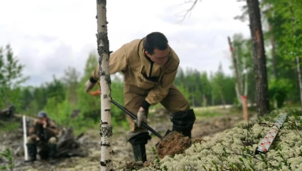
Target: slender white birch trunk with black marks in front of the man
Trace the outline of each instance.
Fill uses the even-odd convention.
[[[97,45],[100,64],[101,91],[101,170],[113,170],[111,124],[111,78],[109,72],[109,40],[107,34],[106,0],[97,0]]]

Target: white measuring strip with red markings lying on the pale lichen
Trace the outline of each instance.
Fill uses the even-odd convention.
[[[258,144],[255,153],[258,153],[258,152],[266,153],[268,151],[269,147],[271,146],[274,139],[276,138],[278,130],[283,125],[285,119],[286,119],[286,114],[280,115],[278,120],[274,123],[272,129],[266,134],[266,136]]]

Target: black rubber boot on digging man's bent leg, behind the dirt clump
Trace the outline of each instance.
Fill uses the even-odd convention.
[[[173,123],[172,131],[182,133],[184,136],[191,137],[191,130],[195,122],[195,114],[193,109],[176,112],[171,115],[171,122]]]

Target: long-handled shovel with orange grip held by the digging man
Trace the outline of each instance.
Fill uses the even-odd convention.
[[[100,82],[98,82],[98,84],[100,85]],[[96,95],[100,95],[101,92],[100,90],[97,90],[95,92],[88,92],[89,94],[96,96]],[[137,120],[137,117],[135,115],[133,115],[130,111],[128,111],[127,109],[125,109],[124,107],[122,107],[120,104],[118,104],[116,101],[114,101],[111,98],[111,103],[113,103],[115,106],[117,106],[118,108],[120,108],[122,111],[124,111],[126,114],[128,114],[132,119]],[[151,128],[150,126],[148,126],[145,122],[141,123],[142,127],[146,128],[147,130],[151,131],[152,133],[154,133],[157,137],[159,137],[161,140],[164,138],[161,134],[159,134],[158,132],[156,132],[153,128]],[[165,137],[170,134],[172,131],[171,130],[167,130]],[[156,146],[159,144],[159,142],[156,144]]]

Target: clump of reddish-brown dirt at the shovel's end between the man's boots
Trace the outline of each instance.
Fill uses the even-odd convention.
[[[179,132],[173,131],[162,139],[157,146],[157,153],[160,158],[165,155],[175,155],[183,153],[191,146],[191,139]]]

